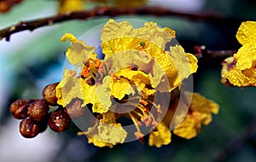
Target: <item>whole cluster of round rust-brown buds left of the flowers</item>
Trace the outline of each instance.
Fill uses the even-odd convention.
[[[79,118],[84,113],[81,107],[83,101],[73,99],[67,107],[57,104],[55,88],[59,83],[49,84],[43,90],[43,99],[20,99],[10,106],[10,113],[20,122],[20,134],[32,138],[46,130],[47,125],[55,132],[62,132],[69,128],[71,118]],[[50,107],[58,106],[55,111]]]

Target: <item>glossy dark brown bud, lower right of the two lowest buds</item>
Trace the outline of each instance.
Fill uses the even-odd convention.
[[[49,114],[48,125],[49,128],[55,132],[67,130],[70,126],[70,117],[68,116],[66,109],[60,107],[54,112],[51,112]]]

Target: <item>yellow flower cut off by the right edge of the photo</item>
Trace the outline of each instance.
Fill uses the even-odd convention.
[[[256,22],[241,23],[236,38],[242,47],[224,60],[221,82],[234,86],[256,86]]]

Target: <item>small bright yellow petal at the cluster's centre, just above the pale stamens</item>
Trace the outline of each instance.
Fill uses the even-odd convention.
[[[130,82],[126,78],[112,79],[109,87],[111,90],[111,95],[119,100],[124,98],[125,95],[135,94]]]

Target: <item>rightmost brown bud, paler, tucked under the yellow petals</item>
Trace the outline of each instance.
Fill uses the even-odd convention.
[[[68,105],[67,105],[67,113],[70,118],[76,119],[83,115],[84,113],[84,107],[82,107],[83,101],[76,98],[73,99]]]

